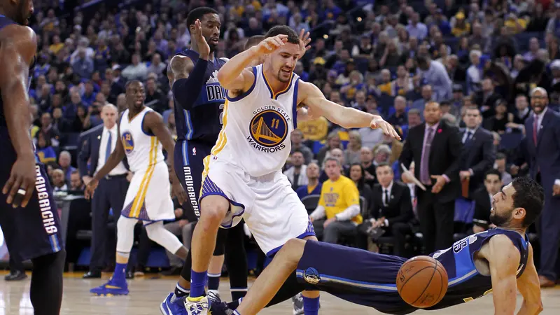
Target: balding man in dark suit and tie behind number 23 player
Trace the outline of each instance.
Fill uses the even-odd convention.
[[[111,152],[115,150],[116,141],[119,141],[116,124],[118,119],[117,108],[112,104],[107,104],[103,107],[101,116],[103,125],[94,127],[80,136],[82,148],[78,156],[78,168],[85,185],[103,167]],[[87,167],[88,161],[90,162],[89,168]],[[105,179],[99,182],[99,188],[93,196],[92,254],[90,271],[84,274],[84,278],[100,278],[105,262],[114,261],[116,242],[107,239],[109,209],[113,209],[115,218],[120,217],[129,185],[127,175],[128,166],[121,162]],[[115,233],[115,235],[117,234]],[[114,244],[114,246],[111,246],[113,248],[109,248],[108,244]]]

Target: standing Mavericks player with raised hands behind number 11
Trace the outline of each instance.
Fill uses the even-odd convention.
[[[191,48],[172,58],[167,76],[175,98],[175,172],[188,193],[195,214],[200,216],[198,197],[204,170],[203,159],[210,155],[223,124],[226,91],[218,83],[216,75],[228,59],[216,58],[214,55],[221,28],[216,10],[207,7],[191,10],[187,25],[191,34]],[[248,268],[243,237],[242,225],[218,233],[211,264],[214,268],[211,267],[208,272],[209,291],[217,293],[225,253],[232,298],[237,300],[246,294]],[[181,297],[189,293],[190,269],[189,252],[175,292],[170,293],[160,305],[162,314],[186,314]]]

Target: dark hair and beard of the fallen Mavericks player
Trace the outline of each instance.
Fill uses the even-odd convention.
[[[527,228],[540,216],[545,193],[536,181],[528,176],[520,176],[512,181],[515,189],[513,194],[513,207],[525,209],[523,227]]]

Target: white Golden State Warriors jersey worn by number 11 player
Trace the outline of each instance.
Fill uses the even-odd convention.
[[[281,170],[290,155],[290,134],[297,127],[299,76],[293,73],[286,89],[274,92],[262,64],[252,71],[251,88],[226,99],[223,127],[211,155],[257,177]]]

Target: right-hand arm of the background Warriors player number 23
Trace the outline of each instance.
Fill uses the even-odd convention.
[[[144,119],[143,127],[146,128],[146,130],[150,130],[155,137],[158,137],[158,140],[161,141],[163,148],[167,151],[169,166],[171,169],[174,169],[173,152],[175,149],[175,141],[173,140],[171,132],[169,132],[167,127],[165,127],[162,116],[155,111],[146,113],[146,119]],[[187,194],[185,190],[183,190],[183,186],[181,186],[175,172],[169,172],[169,176],[172,181],[173,193],[179,200],[179,204],[183,204],[183,202],[186,202],[187,200]]]

